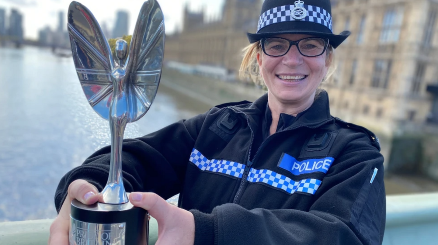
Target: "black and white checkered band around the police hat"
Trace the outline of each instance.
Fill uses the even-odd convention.
[[[296,20],[291,17],[291,11],[295,8],[294,5],[285,5],[281,7],[275,7],[263,13],[258,21],[257,32],[265,26],[272,25],[284,21],[309,21],[324,25],[329,28],[333,33],[332,28],[332,16],[329,12],[321,7],[304,4],[304,8],[307,10],[307,16],[304,19]]]

